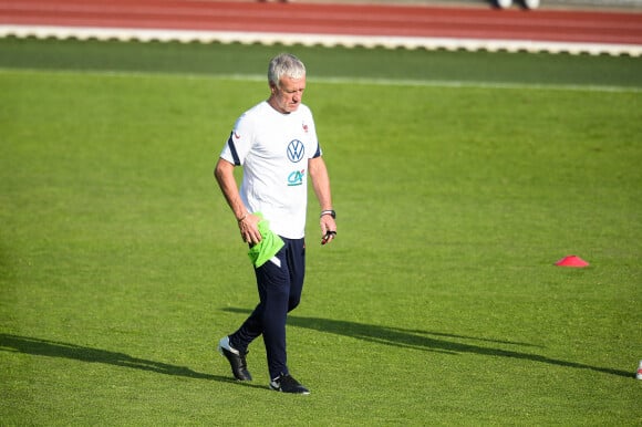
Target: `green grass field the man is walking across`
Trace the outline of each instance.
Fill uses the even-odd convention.
[[[0,41],[0,424],[640,425],[630,58],[288,49],[339,238],[311,198],[312,394],[269,392],[260,342],[231,381],[257,296],[211,169],[280,50]]]

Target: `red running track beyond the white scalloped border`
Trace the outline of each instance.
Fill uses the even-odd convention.
[[[211,0],[0,0],[0,25],[642,45],[642,13]]]

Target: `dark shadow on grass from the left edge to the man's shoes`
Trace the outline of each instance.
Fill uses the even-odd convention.
[[[219,375],[204,374],[200,372],[191,371],[185,366],[176,366],[167,363],[132,357],[124,353],[116,353],[110,352],[107,350],[83,347],[81,345],[70,343],[61,343],[56,341],[11,334],[0,334],[0,351],[18,352],[23,354],[31,354],[34,356],[70,358],[90,363],[103,363],[106,365],[149,371],[165,375],[183,376],[196,379],[210,379],[221,383],[235,383],[245,386],[252,386],[251,384],[237,382],[231,376],[225,377]],[[260,388],[266,387],[261,386]]]

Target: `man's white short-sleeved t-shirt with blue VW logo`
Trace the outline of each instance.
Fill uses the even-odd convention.
[[[240,197],[262,212],[277,235],[301,239],[306,231],[308,159],[321,156],[308,106],[282,114],[263,101],[236,122],[220,157],[244,167]]]

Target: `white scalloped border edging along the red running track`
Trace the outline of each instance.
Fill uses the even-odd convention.
[[[488,51],[528,53],[569,53],[608,54],[613,56],[641,56],[642,45],[584,42],[546,42],[531,40],[484,40],[451,38],[343,35],[343,34],[297,34],[234,31],[188,31],[154,30],[126,28],[90,27],[49,27],[49,25],[0,25],[0,38],[37,39],[79,39],[79,40],[120,40],[138,42],[180,42],[180,43],[241,43],[241,44],[283,44],[327,48],[385,48],[385,49],[426,49],[447,51]]]

